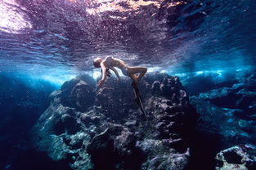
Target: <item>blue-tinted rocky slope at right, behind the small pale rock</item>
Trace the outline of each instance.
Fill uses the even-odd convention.
[[[226,81],[228,86],[191,97],[200,113],[200,129],[221,135],[223,147],[256,144],[256,72],[236,74],[236,79]]]

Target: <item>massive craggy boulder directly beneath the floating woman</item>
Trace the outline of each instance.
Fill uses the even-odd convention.
[[[73,169],[187,168],[197,114],[178,77],[143,77],[147,118],[133,102],[130,84],[109,78],[96,89],[86,75],[65,82],[34,126],[35,148]]]

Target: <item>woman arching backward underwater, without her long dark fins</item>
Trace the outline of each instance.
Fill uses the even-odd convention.
[[[147,68],[145,67],[129,67],[128,64],[124,63],[121,59],[116,59],[114,57],[108,56],[106,59],[97,58],[94,59],[93,65],[95,68],[101,68],[101,81],[98,82],[98,85],[101,87],[105,81],[106,76],[110,76],[109,69],[115,72],[118,77],[118,81],[120,80],[119,73],[116,71],[116,68],[121,69],[125,76],[129,76],[132,79],[132,86],[137,86],[138,82],[141,80],[142,76],[145,75]],[[137,76],[136,74],[139,73]]]

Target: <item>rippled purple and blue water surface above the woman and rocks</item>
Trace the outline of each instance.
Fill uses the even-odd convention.
[[[254,0],[0,0],[0,71],[72,75],[113,55],[150,71],[254,67]]]

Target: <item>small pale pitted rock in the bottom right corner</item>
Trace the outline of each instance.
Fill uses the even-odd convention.
[[[245,144],[232,146],[220,151],[217,159],[216,170],[253,170],[256,169],[256,146]]]

